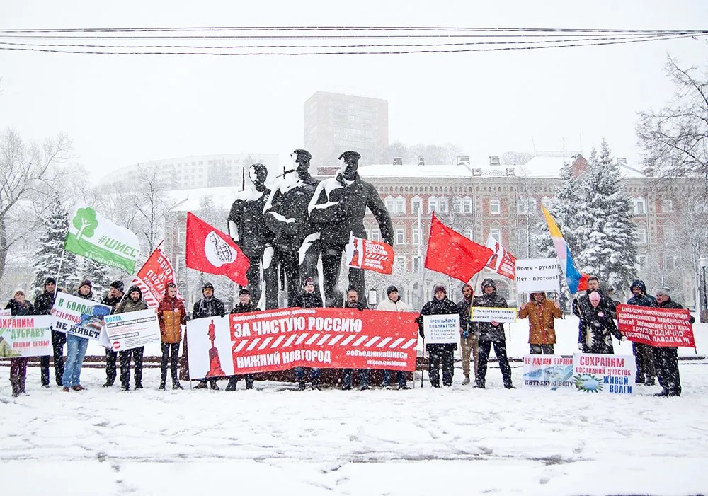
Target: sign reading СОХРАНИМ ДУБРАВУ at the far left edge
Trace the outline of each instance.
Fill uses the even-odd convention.
[[[52,316],[0,316],[0,357],[52,354]]]

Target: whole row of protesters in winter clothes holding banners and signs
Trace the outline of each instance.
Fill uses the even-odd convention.
[[[76,296],[84,299],[93,299],[93,287],[91,281],[84,280],[79,284]],[[671,299],[671,292],[668,287],[656,289],[656,298],[647,294],[646,285],[641,280],[632,282],[629,287],[632,297],[627,301],[629,305],[648,306],[658,308],[683,308],[680,304]],[[41,294],[37,296],[34,304],[25,299],[25,294],[18,289],[7,306],[11,316],[26,315],[49,315],[56,297],[56,281],[48,277],[45,280]],[[597,277],[588,279],[588,289],[582,294],[576,295],[573,299],[572,310],[578,317],[578,350],[583,353],[613,354],[614,347],[612,338],[624,341],[625,338],[619,332],[615,320],[617,319],[617,304],[619,301],[612,299],[614,289],[607,285],[600,284]],[[367,311],[369,308],[360,303],[359,294],[355,289],[349,289],[346,299],[343,302],[344,308],[355,308],[359,311]],[[127,293],[124,292],[124,284],[115,281],[110,284],[108,294],[101,303],[110,306],[110,313],[124,313],[147,309],[148,306],[142,298],[142,292],[137,286],[132,286]],[[315,308],[324,306],[319,292],[315,290],[314,280],[307,277],[302,281],[302,292],[298,294],[292,306],[302,308]],[[493,347],[496,354],[499,369],[503,379],[503,386],[514,389],[512,382],[511,367],[506,352],[506,332],[504,324],[501,322],[476,322],[470,318],[470,313],[474,307],[498,307],[507,308],[508,303],[496,291],[496,283],[493,279],[484,279],[481,282],[481,294],[474,295],[474,289],[469,284],[462,287],[462,299],[457,303],[448,299],[447,289],[442,285],[433,288],[433,299],[428,301],[419,312],[416,322],[419,333],[425,339],[424,320],[425,316],[434,315],[457,315],[459,316],[459,345],[462,355],[462,373],[464,379],[462,385],[467,385],[474,380],[474,388],[486,388],[486,372],[489,362],[489,354]],[[378,311],[400,311],[409,312],[411,308],[401,300],[399,291],[395,286],[387,288],[387,299],[384,299],[376,307]],[[252,313],[258,312],[260,308],[251,301],[249,289],[241,289],[239,292],[239,302],[230,313]],[[161,332],[161,380],[159,389],[166,388],[167,369],[169,367],[173,389],[182,389],[178,379],[178,353],[180,343],[183,340],[182,328],[187,321],[198,318],[215,316],[225,316],[227,308],[224,303],[214,294],[214,287],[206,283],[202,287],[202,298],[195,302],[193,312],[188,315],[181,299],[177,297],[176,284],[170,282],[166,285],[166,291],[159,301],[157,307],[157,317]],[[529,296],[528,301],[523,301],[518,309],[518,318],[528,319],[530,354],[554,354],[556,344],[555,321],[561,318],[561,308],[557,301],[548,299],[543,292],[534,292]],[[695,319],[690,318],[693,323]],[[183,364],[186,364],[186,335],[183,345]],[[63,391],[83,391],[81,386],[81,368],[86,354],[86,347],[89,340],[87,338],[64,334],[52,330],[52,351],[55,368],[55,381],[62,386]],[[64,344],[67,345],[67,357],[64,362]],[[0,342],[0,345],[2,343]],[[652,347],[632,343],[634,357],[636,359],[636,377],[638,384],[651,386],[658,379],[662,386],[661,393],[656,396],[680,396],[681,382],[678,369],[678,352],[675,347]],[[454,374],[454,352],[457,350],[457,343],[446,344],[427,343],[425,345],[428,353],[428,376],[430,385],[439,388],[440,371],[442,371],[442,386],[452,386]],[[120,384],[121,391],[130,389],[130,369],[131,360],[134,365],[134,388],[142,389],[142,368],[143,368],[144,347],[132,350],[125,350],[119,353],[107,350],[105,352],[105,373],[106,381],[103,387],[113,386],[116,378],[116,361],[120,362]],[[27,370],[27,357],[13,357],[10,361],[10,382],[13,396],[23,396],[25,392],[25,380]],[[470,367],[472,365],[472,367]],[[50,383],[50,357],[40,357],[41,385],[49,387]],[[390,388],[392,386],[392,372],[382,371],[382,386]],[[396,372],[396,388],[408,389],[406,372]],[[295,367],[295,379],[299,390],[307,386],[306,376],[311,387],[319,389],[319,379],[321,371],[318,368]],[[341,370],[341,388],[349,390],[353,388],[354,379],[357,379],[361,390],[370,388],[370,371],[368,369],[343,369]],[[656,379],[655,379],[656,378]],[[246,389],[253,389],[253,374],[244,376],[229,376],[227,391],[236,391],[239,379],[244,379]],[[212,388],[219,389],[217,379],[209,377],[200,379],[195,389]]]

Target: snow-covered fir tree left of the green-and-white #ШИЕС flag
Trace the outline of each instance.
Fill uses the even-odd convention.
[[[59,205],[59,202],[56,202]],[[42,219],[42,232],[35,249],[35,289],[42,291],[47,277],[57,277],[59,263],[62,270],[59,273],[57,285],[61,288],[72,291],[79,283],[81,270],[79,260],[71,252],[64,252],[62,260],[62,250],[64,241],[67,239],[69,231],[69,215],[61,208],[49,209],[45,218]]]

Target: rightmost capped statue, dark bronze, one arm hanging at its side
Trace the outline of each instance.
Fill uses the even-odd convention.
[[[364,215],[367,208],[379,224],[384,243],[393,245],[391,216],[376,188],[361,180],[357,172],[360,158],[356,151],[341,154],[341,169],[335,177],[317,185],[309,202],[309,217],[320,231],[326,306],[342,306],[343,296],[337,289],[342,253],[349,243],[350,235],[366,238]],[[356,289],[361,303],[367,304],[362,269],[349,268],[348,287]]]

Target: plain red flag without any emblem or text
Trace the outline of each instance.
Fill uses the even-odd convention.
[[[484,268],[492,253],[494,252],[486,246],[470,241],[442,224],[433,213],[426,269],[469,282],[473,275]]]

